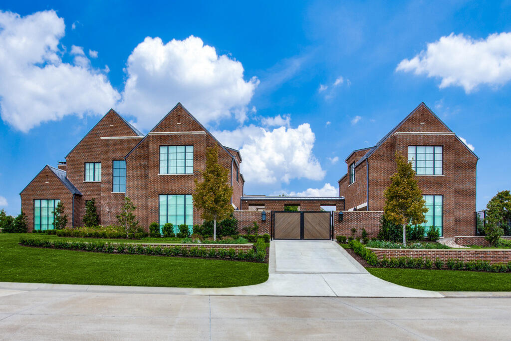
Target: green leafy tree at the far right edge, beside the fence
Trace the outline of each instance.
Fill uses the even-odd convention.
[[[511,193],[500,191],[486,205],[486,223],[484,224],[485,239],[491,245],[497,245],[504,234],[502,221],[511,214]]]

